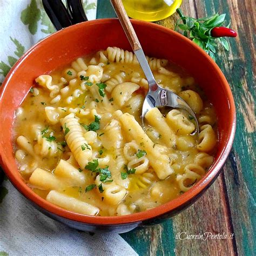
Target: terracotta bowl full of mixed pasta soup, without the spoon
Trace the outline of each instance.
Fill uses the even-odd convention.
[[[44,39],[4,85],[7,176],[44,213],[81,230],[125,232],[177,213],[210,186],[232,144],[233,98],[218,66],[176,32],[133,25],[157,82],[191,106],[199,134],[179,109],[152,109],[142,127],[147,81],[114,19]]]

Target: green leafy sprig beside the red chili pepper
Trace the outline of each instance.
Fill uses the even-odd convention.
[[[180,19],[176,24],[175,30],[183,31],[183,35],[190,38],[192,42],[196,43],[200,48],[205,50],[208,55],[215,61],[215,52],[217,42],[220,42],[224,48],[228,51],[229,46],[227,40],[223,37],[212,37],[211,30],[218,26],[223,26],[225,23],[226,14],[219,15],[218,13],[205,18],[191,18],[183,15],[180,9],[177,9]],[[230,24],[226,26],[229,28]]]

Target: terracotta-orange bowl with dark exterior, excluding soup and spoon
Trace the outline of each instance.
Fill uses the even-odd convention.
[[[70,26],[47,37],[25,53],[2,85],[0,103],[0,154],[11,183],[49,217],[84,231],[123,233],[156,223],[190,206],[217,178],[231,150],[235,133],[235,106],[230,86],[217,64],[196,44],[163,26],[132,21],[146,55],[166,58],[185,68],[213,103],[218,116],[219,142],[214,163],[205,177],[177,199],[152,210],[120,217],[92,217],[66,211],[37,196],[24,183],[14,158],[12,124],[35,78],[108,46],[131,50],[117,19],[98,19]]]

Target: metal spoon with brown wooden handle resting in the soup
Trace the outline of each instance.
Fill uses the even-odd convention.
[[[198,133],[198,120],[191,107],[188,106],[187,103],[184,102],[184,100],[181,99],[176,93],[159,86],[156,82],[156,79],[154,79],[149,63],[147,63],[145,54],[142,50],[142,46],[139,43],[139,39],[133,29],[129,17],[126,14],[122,0],[111,0],[111,3],[132,46],[132,50],[136,55],[140,66],[142,67],[142,70],[147,78],[147,82],[149,83],[149,91],[146,94],[142,108],[143,126],[145,114],[147,113],[147,111],[149,111],[153,107],[170,106],[174,108],[184,109],[188,113],[190,113],[195,120],[196,132]]]

